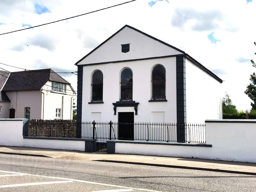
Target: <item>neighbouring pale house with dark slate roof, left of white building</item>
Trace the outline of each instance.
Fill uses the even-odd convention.
[[[0,71],[0,118],[73,119],[75,95],[52,69]]]

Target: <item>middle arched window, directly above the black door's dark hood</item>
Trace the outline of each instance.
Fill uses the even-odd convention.
[[[133,72],[125,68],[120,78],[120,101],[133,100]]]

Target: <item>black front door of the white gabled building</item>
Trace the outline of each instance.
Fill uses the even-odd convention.
[[[134,140],[134,113],[119,112],[118,113],[118,139]]]

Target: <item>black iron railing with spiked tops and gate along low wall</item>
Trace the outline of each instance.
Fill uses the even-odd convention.
[[[99,148],[111,139],[206,143],[205,124],[29,120],[25,130],[26,136],[93,138]]]

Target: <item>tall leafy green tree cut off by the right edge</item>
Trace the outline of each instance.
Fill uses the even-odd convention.
[[[254,42],[254,45],[256,43]],[[256,53],[254,53],[256,55]],[[251,60],[252,66],[256,68],[256,63]],[[256,110],[256,74],[255,72],[250,77],[251,83],[247,85],[246,91],[244,91],[245,94],[248,95],[248,97],[252,100],[251,106],[252,110]]]

